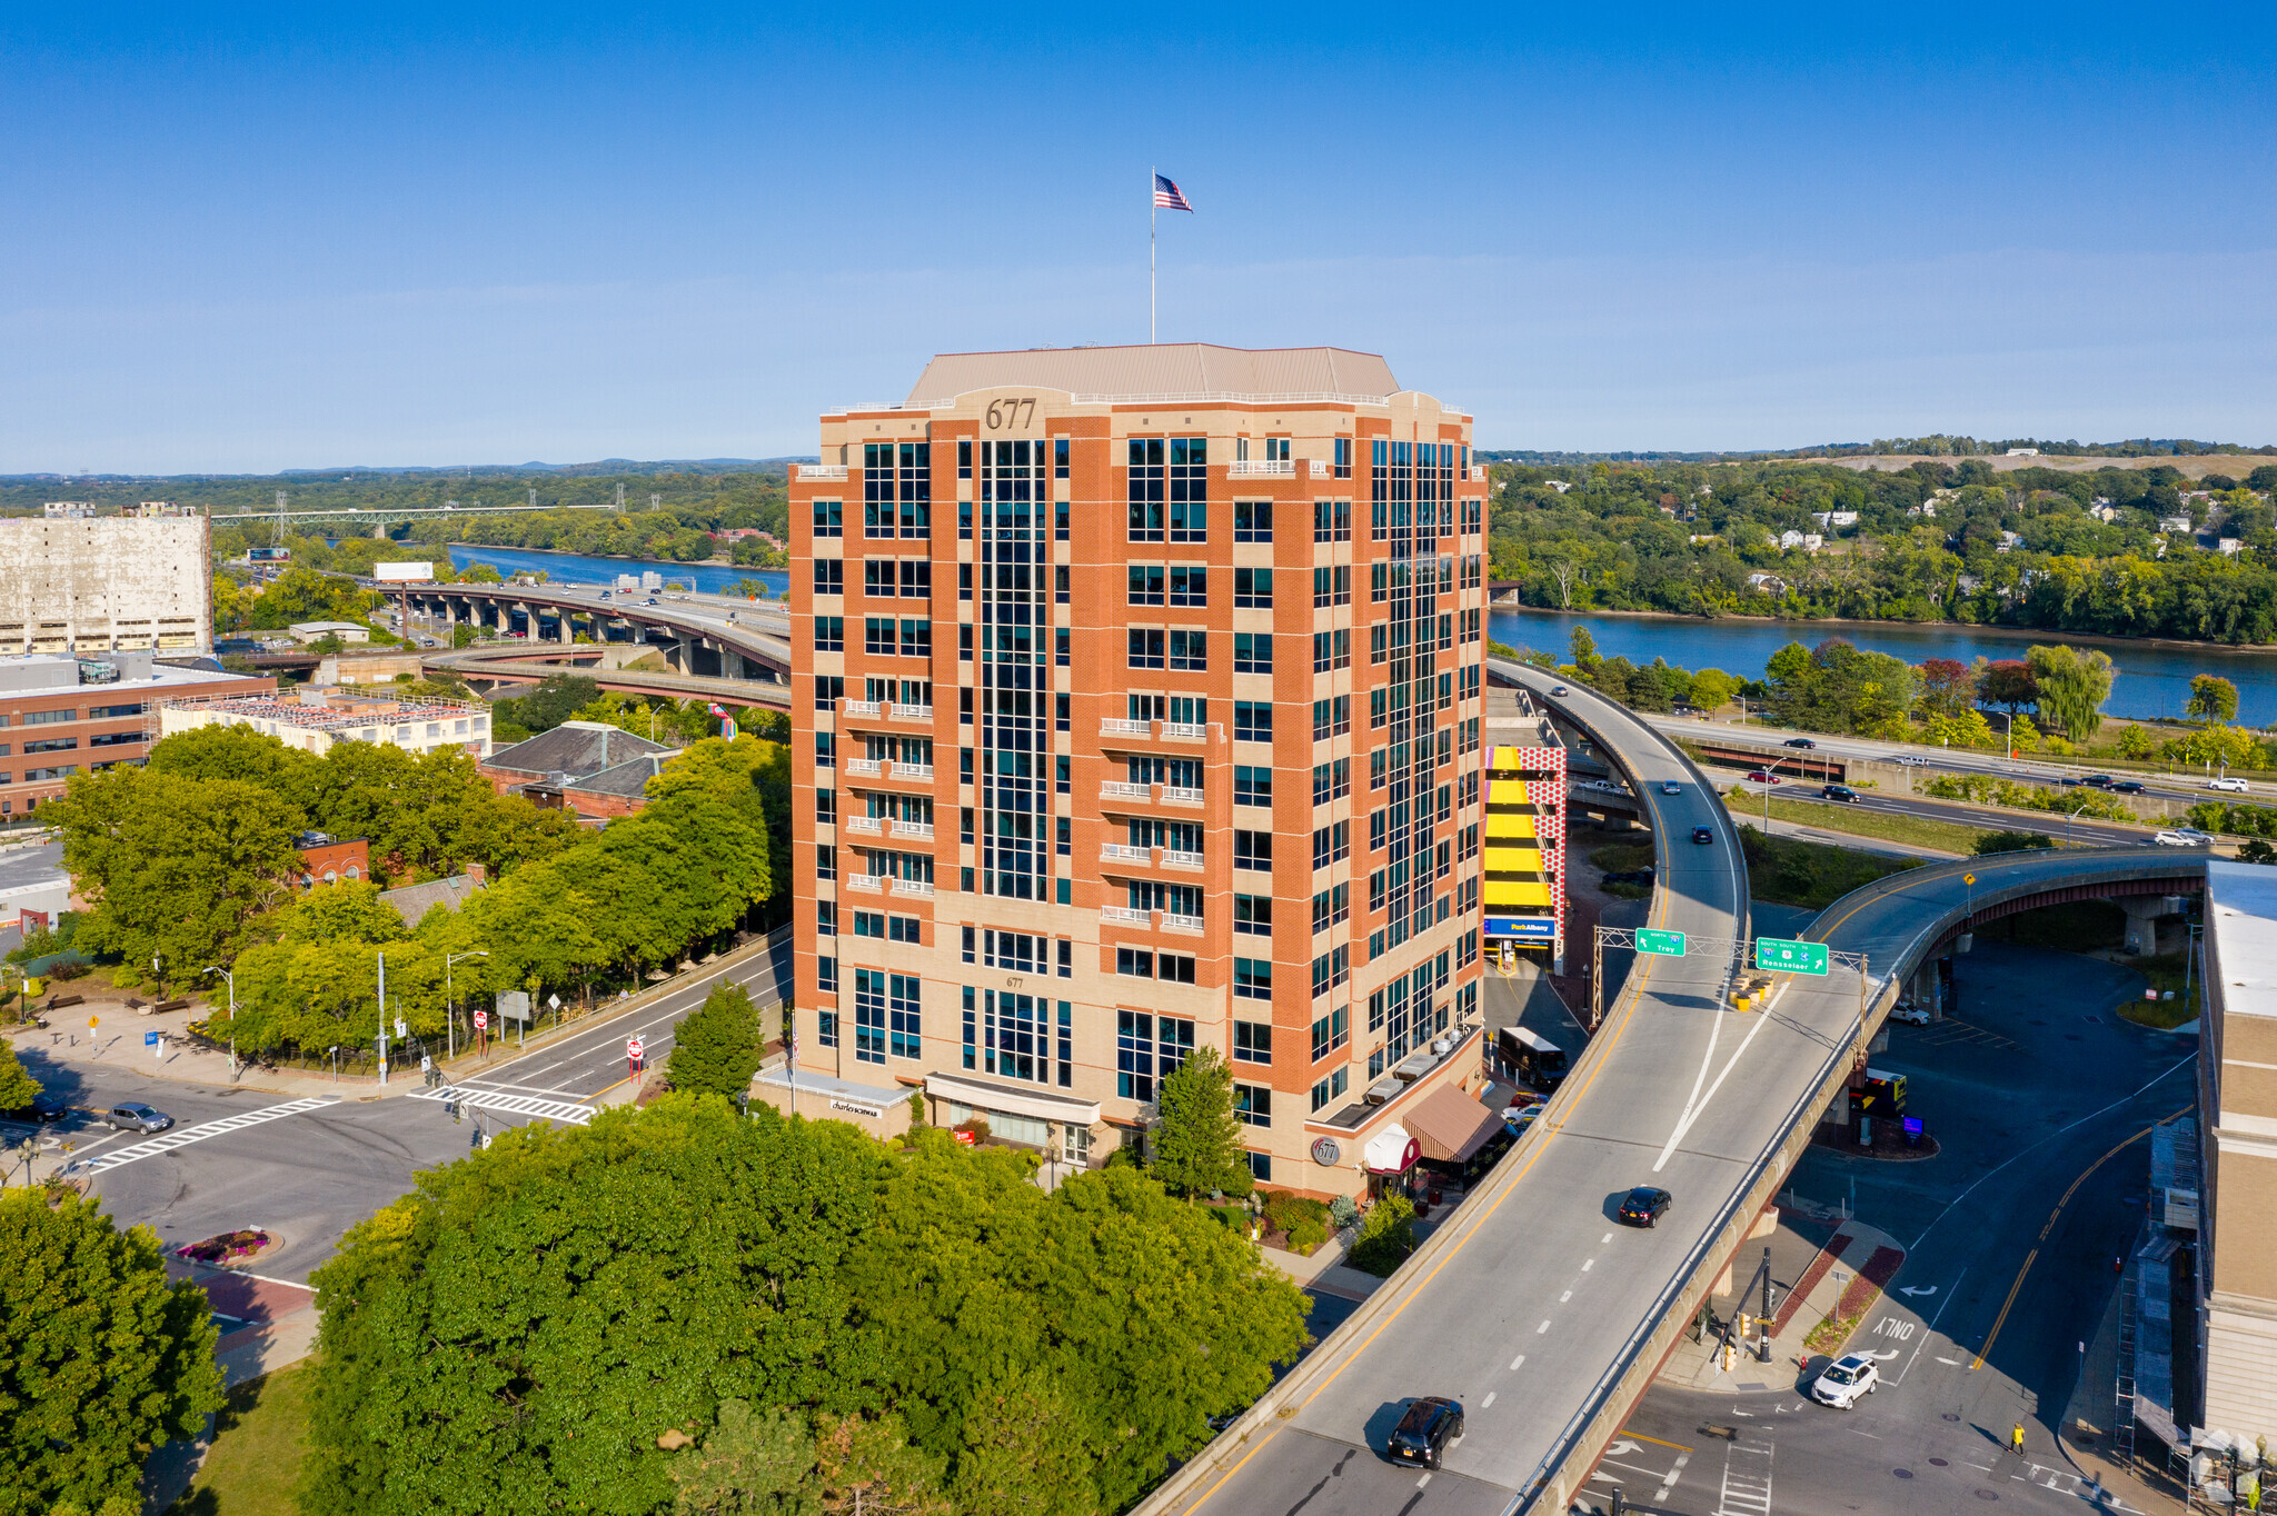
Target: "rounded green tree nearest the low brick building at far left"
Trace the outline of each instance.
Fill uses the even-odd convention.
[[[118,956],[146,983],[153,956],[168,974],[237,958],[301,863],[298,808],[235,778],[73,774],[43,815],[89,904],[77,949]]]

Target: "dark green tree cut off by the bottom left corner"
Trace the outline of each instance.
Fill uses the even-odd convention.
[[[141,1509],[143,1459],[221,1409],[212,1307],[100,1202],[0,1190],[0,1516]]]

